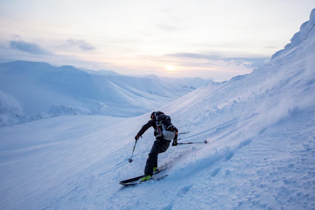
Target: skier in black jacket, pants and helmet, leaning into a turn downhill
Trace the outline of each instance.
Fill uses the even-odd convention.
[[[171,142],[171,140],[165,140],[163,138],[163,135],[160,135],[160,133],[157,130],[156,122],[157,122],[158,116],[161,114],[164,114],[164,113],[160,112],[160,111],[153,112],[151,114],[151,117],[150,117],[151,120],[149,120],[145,125],[143,125],[142,128],[140,129],[140,131],[135,136],[135,140],[138,140],[140,138],[140,136],[142,136],[142,134],[144,132],[146,132],[146,130],[148,130],[152,126],[154,128],[154,136],[156,137],[155,138],[156,140],[154,141],[151,152],[149,153],[149,157],[146,160],[146,167],[144,169],[145,176],[140,180],[140,182],[150,180],[150,178],[153,175],[153,172],[155,172],[157,170],[157,155],[162,153],[162,152],[165,152],[169,148],[169,144]],[[178,130],[174,125],[172,125],[172,126],[173,126],[173,130],[175,133],[175,137],[173,138],[172,146],[176,146],[177,145]]]

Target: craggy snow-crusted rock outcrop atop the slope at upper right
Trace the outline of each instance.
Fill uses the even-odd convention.
[[[284,46],[284,49],[279,50],[275,54],[272,55],[271,60],[277,57],[278,55],[281,55],[287,50],[292,49],[293,47],[301,44],[306,39],[311,38],[315,35],[315,8],[312,10],[310,15],[310,20],[303,23],[300,27],[300,31],[295,33],[294,36],[291,38],[291,43]]]

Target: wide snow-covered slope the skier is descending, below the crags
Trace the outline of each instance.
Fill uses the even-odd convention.
[[[0,207],[314,209],[314,56],[315,36],[308,36],[250,74],[210,82],[159,108],[190,131],[180,142],[209,143],[170,147],[158,163],[169,176],[135,187],[118,181],[143,173],[152,129],[138,141],[134,161],[128,158],[148,113],[0,128]]]

